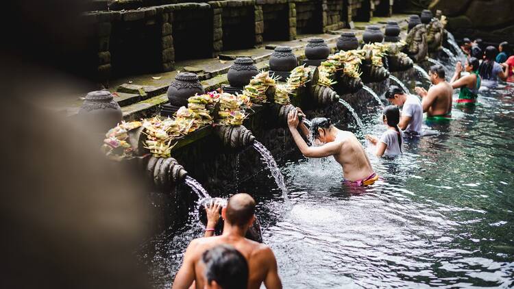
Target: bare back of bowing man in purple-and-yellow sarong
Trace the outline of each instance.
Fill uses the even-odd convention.
[[[374,173],[363,146],[350,131],[338,131],[336,142],[341,143],[341,150],[334,159],[341,164],[345,179],[357,181]]]

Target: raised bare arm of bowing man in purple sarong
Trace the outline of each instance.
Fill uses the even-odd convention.
[[[341,149],[341,142],[330,142],[329,144],[322,145],[321,147],[309,147],[305,140],[300,136],[297,126],[298,126],[298,112],[291,112],[287,116],[287,124],[289,125],[289,130],[291,131],[291,135],[293,136],[293,140],[298,147],[298,149],[305,155],[307,158],[324,158],[329,155],[335,155],[339,153]]]

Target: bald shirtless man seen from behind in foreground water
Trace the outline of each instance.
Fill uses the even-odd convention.
[[[219,244],[230,244],[236,248],[248,262],[249,289],[258,289],[264,282],[268,289],[281,289],[282,283],[278,277],[277,261],[273,251],[265,244],[260,244],[245,238],[248,227],[255,220],[255,201],[249,194],[234,194],[226,208],[221,209],[225,219],[223,234],[208,238],[192,240],[186,249],[184,262],[178,271],[173,289],[187,289],[193,281],[197,289],[204,288],[204,266],[201,255],[204,251]]]

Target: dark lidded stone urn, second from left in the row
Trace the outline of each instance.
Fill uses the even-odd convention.
[[[198,76],[195,73],[179,73],[175,81],[171,82],[168,88],[168,99],[171,109],[175,112],[187,105],[187,99],[194,95],[203,95],[204,88],[201,86]]]

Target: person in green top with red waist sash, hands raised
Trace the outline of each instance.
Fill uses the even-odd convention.
[[[452,80],[450,80],[452,88],[461,88],[461,92],[458,93],[457,103],[464,105],[474,105],[476,103],[481,82],[478,67],[480,67],[478,59],[469,58],[464,64],[464,71],[469,73],[469,75],[461,77],[463,67],[460,61],[457,62],[455,73]]]

